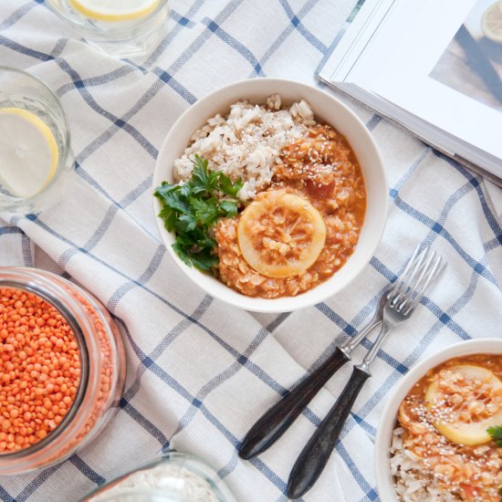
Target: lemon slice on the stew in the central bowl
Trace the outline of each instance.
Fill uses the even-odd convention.
[[[237,240],[246,262],[257,272],[292,277],[318,259],[326,225],[307,199],[273,191],[246,207],[237,225]]]

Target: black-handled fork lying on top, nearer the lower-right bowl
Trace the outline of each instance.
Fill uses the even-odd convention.
[[[353,403],[361,392],[364,382],[371,377],[370,364],[375,359],[383,340],[391,329],[410,319],[424,297],[425,290],[439,276],[444,266],[443,258],[429,247],[422,253],[419,253],[419,250],[420,246],[417,246],[392,290],[383,295],[386,300],[382,310],[382,327],[377,339],[361,364],[353,367],[350,380],[337,402],[310,437],[309,443],[305,445],[293,465],[288,480],[289,498],[301,497],[318,480],[328,463]]]

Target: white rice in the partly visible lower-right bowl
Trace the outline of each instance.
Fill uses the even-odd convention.
[[[397,496],[403,502],[457,502],[462,498],[439,486],[434,476],[425,475],[418,456],[403,446],[403,427],[392,434],[391,474]]]

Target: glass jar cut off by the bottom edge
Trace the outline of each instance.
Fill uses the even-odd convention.
[[[235,497],[204,460],[173,452],[115,477],[81,502],[235,502]]]

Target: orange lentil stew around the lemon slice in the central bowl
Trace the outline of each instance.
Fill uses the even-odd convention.
[[[278,201],[284,192],[298,195],[319,212],[325,224],[324,246],[312,265],[298,270],[301,260],[295,251],[312,246],[321,231],[309,223],[302,225],[302,212],[287,218],[281,204],[269,204],[255,222],[256,254],[267,262],[270,251],[277,251],[277,267],[284,265],[281,258],[293,254],[291,273],[274,277],[252,267],[246,259],[237,233],[242,214],[221,219],[215,228],[219,277],[246,296],[278,298],[314,288],[343,267],[358,242],[366,210],[364,181],[350,145],[332,127],[311,128],[306,138],[283,147],[272,184],[266,192],[258,193],[256,203],[272,197]],[[246,211],[249,208],[244,214]]]

